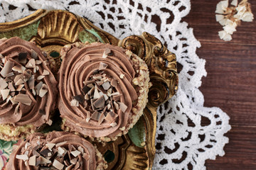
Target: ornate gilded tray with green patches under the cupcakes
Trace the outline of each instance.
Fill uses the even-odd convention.
[[[35,42],[48,53],[50,67],[58,72],[60,49],[73,42],[103,42],[132,50],[149,66],[152,86],[144,115],[127,135],[105,145],[95,143],[108,169],[151,169],[155,155],[156,109],[178,88],[176,56],[153,35],[131,35],[123,40],[68,11],[39,9],[18,21],[0,23],[0,38],[18,36]],[[0,148],[1,149],[1,148]]]

